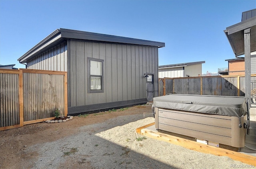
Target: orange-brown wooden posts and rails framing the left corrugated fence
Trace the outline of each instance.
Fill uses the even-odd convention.
[[[46,120],[53,120],[55,117],[30,120],[24,122],[24,98],[23,98],[23,73],[41,73],[41,74],[52,74],[52,75],[64,75],[64,116],[68,116],[68,75],[64,71],[44,71],[44,70],[34,70],[34,69],[0,69],[0,73],[18,74],[18,98],[19,98],[19,124],[13,126],[0,127],[0,131],[9,130],[13,128],[19,128],[26,124],[34,124],[39,122],[44,122]]]

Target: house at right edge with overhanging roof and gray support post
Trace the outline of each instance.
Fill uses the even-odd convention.
[[[224,30],[230,46],[236,58],[244,55],[245,63],[245,96],[251,98],[251,74],[254,74],[256,58],[252,57],[252,52],[256,51],[256,9],[242,12],[242,22],[229,26]]]

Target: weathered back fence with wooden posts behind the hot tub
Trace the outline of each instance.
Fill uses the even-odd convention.
[[[245,96],[244,76],[159,78],[158,95],[168,93],[215,96]],[[256,104],[256,75],[251,75],[251,101]]]

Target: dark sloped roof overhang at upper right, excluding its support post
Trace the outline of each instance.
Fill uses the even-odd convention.
[[[244,29],[251,28],[251,45],[255,43],[255,32],[256,29],[256,17],[250,18],[248,20],[244,20],[239,22],[238,24],[234,24],[229,26],[224,30],[224,33],[230,43],[230,46],[236,56],[240,56],[244,54]],[[256,47],[251,46],[251,52],[255,51]]]

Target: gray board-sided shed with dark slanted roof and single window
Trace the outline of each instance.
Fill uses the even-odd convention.
[[[67,71],[68,114],[79,114],[143,104],[158,96],[158,48],[164,46],[61,28],[18,61],[28,69]]]

